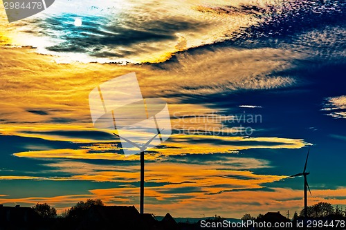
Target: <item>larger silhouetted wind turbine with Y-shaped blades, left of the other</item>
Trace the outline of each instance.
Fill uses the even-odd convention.
[[[154,137],[150,138],[150,140],[147,141],[143,146],[139,146],[135,142],[131,142],[125,137],[121,137],[120,135],[113,133],[117,137],[120,137],[122,140],[125,140],[125,142],[139,148],[140,150],[140,214],[144,213],[144,152],[149,146],[149,144],[163,131],[159,131],[154,135]]]

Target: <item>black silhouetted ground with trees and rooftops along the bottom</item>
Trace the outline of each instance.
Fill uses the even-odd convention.
[[[308,207],[309,218],[303,218],[304,209],[288,219],[280,212],[260,214],[257,218],[246,213],[242,220],[215,215],[197,222],[176,222],[170,213],[162,220],[153,214],[141,215],[134,206],[104,206],[101,200],[78,202],[57,217],[48,204],[34,207],[3,207],[0,204],[0,230],[195,230],[195,229],[346,229],[345,211],[320,202]],[[246,223],[247,225],[244,225]],[[279,224],[277,227],[275,224]],[[336,226],[338,224],[338,226]]]

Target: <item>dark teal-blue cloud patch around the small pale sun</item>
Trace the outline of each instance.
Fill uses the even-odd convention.
[[[140,52],[132,47],[137,44],[156,41],[175,41],[176,32],[199,30],[198,21],[182,20],[167,17],[158,21],[131,21],[131,15],[126,19],[102,16],[82,17],[80,27],[73,25],[78,15],[62,14],[48,17],[45,21],[36,21],[43,35],[48,35],[60,42],[46,47],[55,52],[81,52],[93,57],[127,57]],[[125,17],[125,16],[122,16]],[[135,20],[135,19],[134,19]],[[125,49],[116,50],[114,48]],[[135,50],[135,51],[134,51]]]

